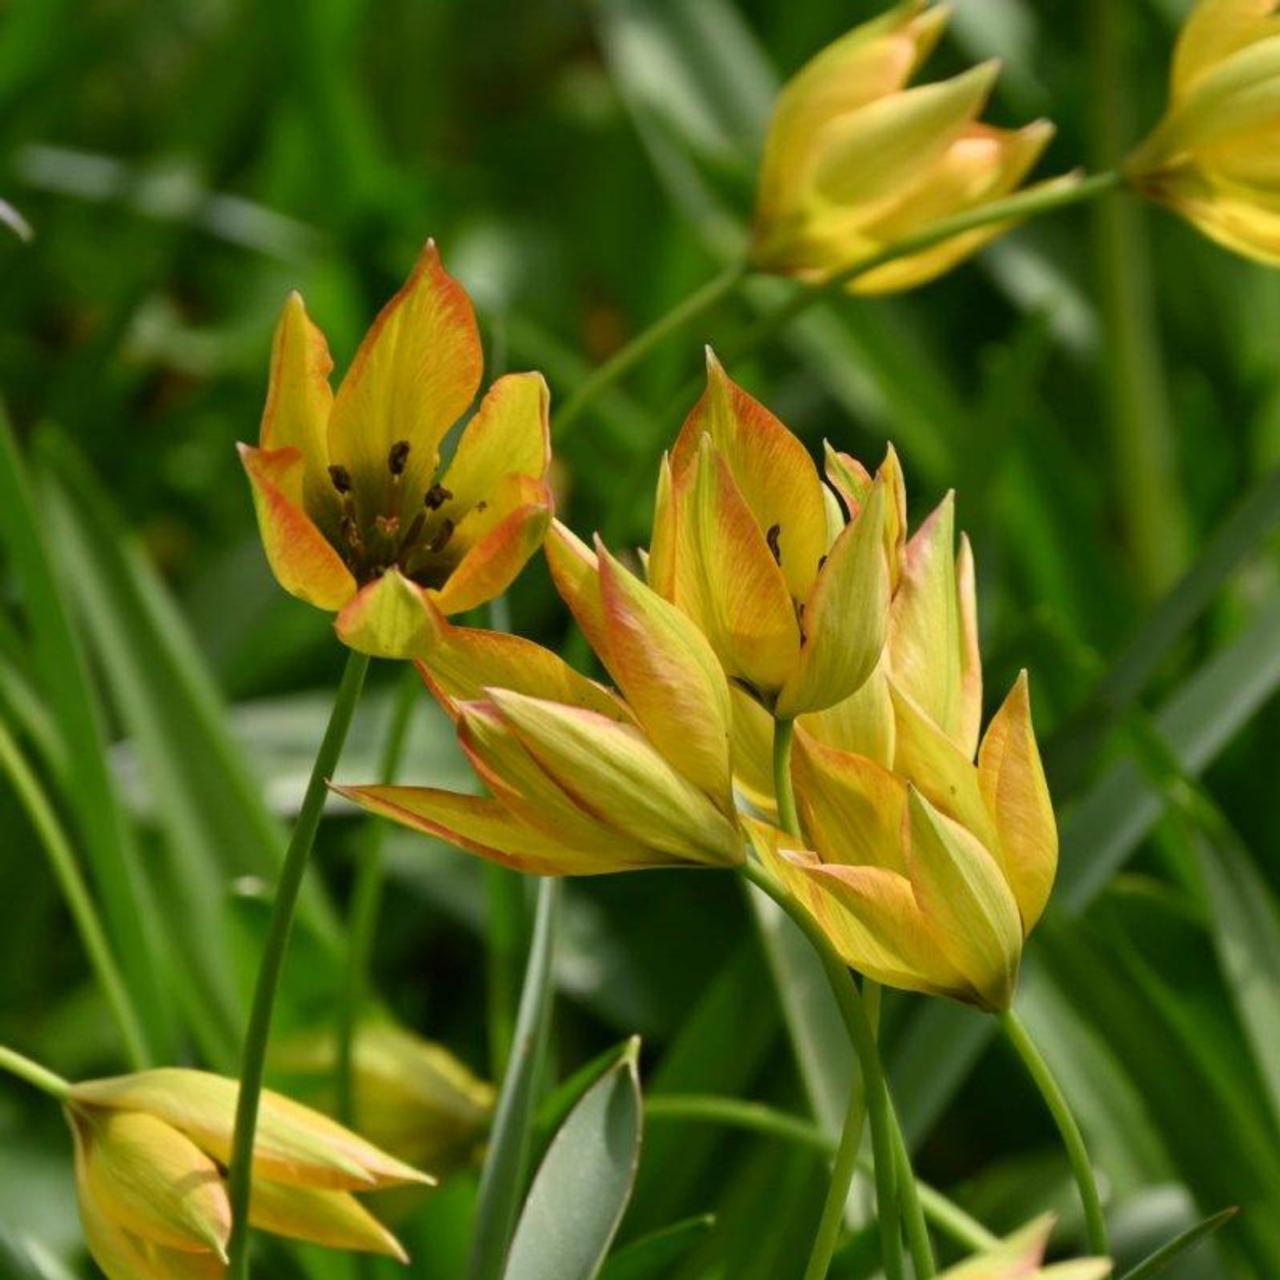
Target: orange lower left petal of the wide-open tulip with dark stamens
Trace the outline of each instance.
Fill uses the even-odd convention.
[[[317,609],[340,609],[356,580],[302,508],[305,460],[297,448],[266,452],[239,445],[253,490],[262,549],[276,581]]]

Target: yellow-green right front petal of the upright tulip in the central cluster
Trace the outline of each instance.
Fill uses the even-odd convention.
[[[876,669],[888,631],[884,511],[884,485],[877,484],[819,570],[801,617],[800,662],[778,695],[780,717],[833,707]]]

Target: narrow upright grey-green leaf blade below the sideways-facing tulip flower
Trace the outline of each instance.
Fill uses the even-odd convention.
[[[538,884],[534,937],[516,1015],[516,1036],[507,1075],[498,1094],[493,1134],[476,1206],[468,1280],[503,1275],[507,1245],[520,1207],[532,1143],[536,1088],[547,1057],[552,1012],[552,954],[561,884],[548,877]]]

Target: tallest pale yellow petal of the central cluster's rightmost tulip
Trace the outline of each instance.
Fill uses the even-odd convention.
[[[966,640],[956,582],[955,498],[947,494],[915,531],[890,612],[890,675],[959,744],[969,710],[961,660]]]

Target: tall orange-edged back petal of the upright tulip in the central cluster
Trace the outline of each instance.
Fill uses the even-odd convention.
[[[762,538],[772,531],[769,541],[787,590],[803,600],[827,553],[818,468],[800,440],[724,372],[710,348],[707,390],[685,420],[672,452],[675,475],[694,463],[708,435]]]

